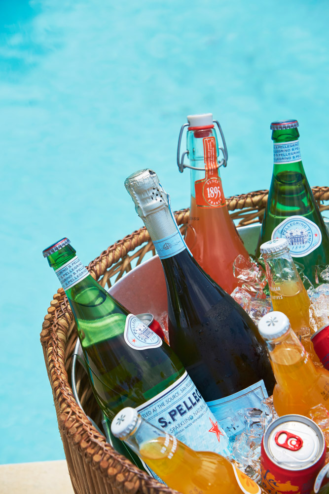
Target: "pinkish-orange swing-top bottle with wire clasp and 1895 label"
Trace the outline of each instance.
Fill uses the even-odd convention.
[[[249,254],[231,219],[221,185],[219,166],[226,166],[227,149],[224,135],[211,113],[189,115],[186,134],[187,154],[190,165],[178,165],[191,170],[191,205],[185,242],[202,269],[227,293],[237,287],[233,275],[233,262],[238,255],[249,259]],[[214,122],[218,125],[224,148],[219,147]],[[219,162],[219,150],[224,158]]]

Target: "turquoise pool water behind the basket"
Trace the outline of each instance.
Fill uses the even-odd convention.
[[[68,236],[87,264],[142,225],[123,182],[154,168],[189,203],[190,113],[225,133],[226,196],[268,188],[272,120],[296,118],[329,185],[329,4],[311,0],[0,1],[0,463],[64,458],[39,333]]]

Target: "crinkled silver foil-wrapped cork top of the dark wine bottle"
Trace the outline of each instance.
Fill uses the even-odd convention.
[[[169,198],[159,183],[155,171],[146,168],[129,175],[125,188],[135,203],[137,214],[143,219],[150,213],[169,206]]]

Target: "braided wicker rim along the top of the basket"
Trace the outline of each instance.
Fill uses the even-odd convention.
[[[329,187],[313,187],[312,191],[318,203],[329,201]],[[268,190],[254,191],[229,197],[226,199],[226,204],[230,211],[246,208],[260,210],[266,206],[267,197]],[[183,225],[187,223],[189,208],[181,209],[174,214],[178,225]],[[89,263],[87,269],[98,281],[114,263],[124,259],[128,252],[145,243],[149,249],[152,243],[146,228],[142,227],[103,250],[98,257]],[[110,484],[114,482],[115,487],[119,490],[121,489],[126,493],[135,493],[139,489],[150,493],[154,492],[154,489],[157,492],[168,494],[176,492],[158,483],[120,453],[113,450],[106,442],[105,436],[97,431],[77,405],[66,368],[70,352],[72,353],[76,341],[76,332],[75,338],[73,334],[68,341],[68,334],[72,332],[73,327],[71,308],[63,288],[59,288],[54,294],[45,316],[40,340],[53,390],[62,440],[64,434],[70,447],[78,452],[84,461],[90,464],[91,468],[97,471],[107,482]],[[70,452],[66,451],[66,455],[68,453]],[[75,472],[71,469],[70,474],[72,478]]]

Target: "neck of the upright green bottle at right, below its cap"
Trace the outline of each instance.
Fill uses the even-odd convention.
[[[286,170],[305,174],[298,137],[297,128],[272,131],[274,175]]]

